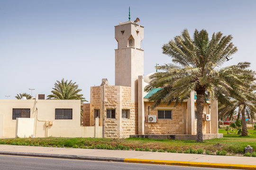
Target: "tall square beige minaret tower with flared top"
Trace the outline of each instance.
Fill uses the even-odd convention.
[[[138,76],[144,75],[144,26],[127,21],[115,26],[115,85],[131,87],[132,102],[138,100]]]

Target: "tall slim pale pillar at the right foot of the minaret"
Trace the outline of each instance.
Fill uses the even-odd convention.
[[[138,76],[138,134],[144,135],[144,79]]]

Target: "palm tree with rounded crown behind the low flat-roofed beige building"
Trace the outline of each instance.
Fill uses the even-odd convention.
[[[48,95],[48,99],[57,99],[57,100],[81,100],[81,104],[83,102],[88,102],[85,100],[82,94],[78,94],[81,92],[82,89],[78,88],[78,85],[76,85],[76,82],[72,82],[70,80],[64,80],[64,78],[60,81],[57,80],[57,83],[54,84],[54,88],[51,91],[53,94]],[[81,113],[80,113],[80,120],[82,122],[82,107],[81,107]]]

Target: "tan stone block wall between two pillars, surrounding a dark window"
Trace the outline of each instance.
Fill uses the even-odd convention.
[[[185,117],[186,117],[186,102],[178,104],[174,107],[174,103],[171,103],[169,106],[166,104],[161,104],[157,108],[175,108],[172,109],[172,119],[157,119],[156,123],[145,123],[145,134],[185,134]],[[148,115],[148,106],[153,105],[153,102],[145,102],[145,116],[147,119]],[[149,109],[150,115],[157,116],[158,109],[151,110]],[[169,109],[161,109],[169,110]]]

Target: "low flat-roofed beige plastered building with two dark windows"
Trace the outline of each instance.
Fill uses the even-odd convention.
[[[80,126],[80,100],[0,100],[0,138],[101,137],[102,127]]]

